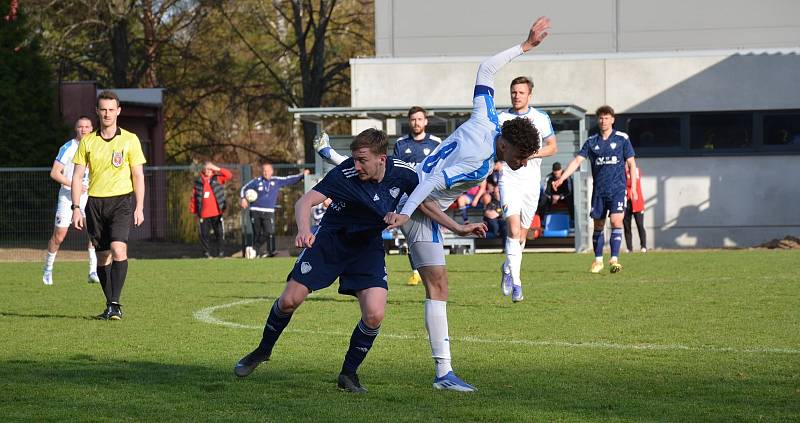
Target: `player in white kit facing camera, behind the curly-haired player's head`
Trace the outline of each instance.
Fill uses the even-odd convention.
[[[553,125],[547,113],[530,106],[533,96],[533,81],[520,76],[511,81],[511,108],[498,114],[500,123],[525,117],[539,131],[539,151],[528,160],[528,165],[517,170],[503,163],[500,177],[500,202],[506,219],[508,235],[505,239],[506,259],[503,261],[500,286],[503,295],[510,295],[511,301],[523,300],[522,250],[531,227],[536,207],[539,205],[539,191],[542,185],[542,157],[552,156],[558,151]]]

